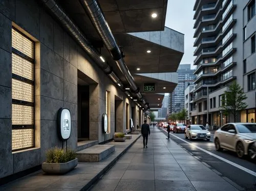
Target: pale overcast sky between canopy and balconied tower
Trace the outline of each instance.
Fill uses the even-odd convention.
[[[193,66],[194,44],[194,4],[196,0],[168,0],[165,26],[184,34],[184,55],[181,64]]]

